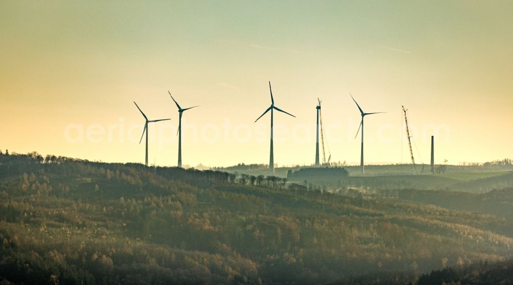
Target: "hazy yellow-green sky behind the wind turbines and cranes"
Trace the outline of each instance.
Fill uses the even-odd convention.
[[[148,4],[151,3],[151,4]],[[512,157],[511,1],[0,3],[0,149],[103,161],[312,164],[315,105],[333,161]],[[434,128],[433,128],[434,127]],[[435,129],[436,128],[436,129]],[[420,153],[420,156],[419,156]]]

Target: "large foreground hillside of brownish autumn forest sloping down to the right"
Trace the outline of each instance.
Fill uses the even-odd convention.
[[[0,278],[324,283],[376,272],[418,276],[513,253],[508,217],[252,179],[2,155]]]

